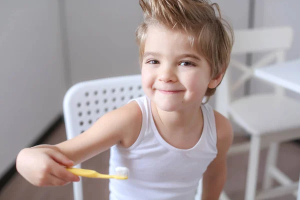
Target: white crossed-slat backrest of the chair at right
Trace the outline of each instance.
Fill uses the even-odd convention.
[[[231,54],[268,53],[251,66],[230,59],[229,67],[235,67],[241,70],[243,74],[235,82],[231,82],[230,73],[225,73],[215,93],[215,109],[228,117],[227,107],[232,101],[232,94],[253,77],[255,67],[264,66],[272,61],[284,61],[285,51],[290,48],[292,37],[293,30],[289,26],[234,30],[234,44]],[[276,92],[281,94],[281,88],[277,87]]]

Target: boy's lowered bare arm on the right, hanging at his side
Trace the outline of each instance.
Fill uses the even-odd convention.
[[[229,120],[216,111],[214,112],[214,116],[218,153],[203,174],[202,200],[219,199],[226,181],[227,152],[233,139],[233,131]]]

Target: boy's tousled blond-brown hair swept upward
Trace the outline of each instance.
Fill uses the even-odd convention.
[[[140,63],[148,26],[159,25],[186,33],[191,46],[209,62],[211,78],[225,72],[230,60],[233,31],[221,18],[217,3],[209,0],[139,0],[139,5],[143,11],[143,22],[135,34]],[[215,90],[207,88],[205,96],[213,95]]]

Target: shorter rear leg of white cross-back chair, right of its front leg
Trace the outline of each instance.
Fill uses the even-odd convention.
[[[264,177],[262,181],[262,189],[264,190],[270,189],[273,184],[273,178],[271,176],[270,169],[271,167],[276,166],[278,149],[279,144],[276,142],[272,142],[268,148]]]

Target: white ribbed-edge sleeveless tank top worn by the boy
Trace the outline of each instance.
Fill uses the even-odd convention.
[[[214,113],[201,105],[203,131],[190,149],[179,149],[159,134],[152,117],[150,99],[135,100],[142,112],[142,125],[136,141],[128,148],[110,148],[109,173],[115,167],[129,169],[127,180],[110,179],[110,200],[194,199],[196,188],[208,164],[217,154]]]

